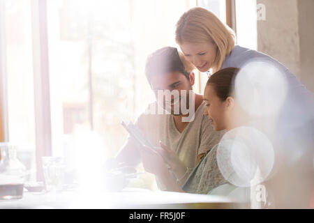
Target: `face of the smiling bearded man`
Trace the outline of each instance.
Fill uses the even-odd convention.
[[[181,72],[167,72],[164,75],[153,75],[151,77],[151,89],[154,91],[158,104],[172,115],[181,115],[181,104],[188,109],[189,91],[192,90],[194,84],[194,75],[190,73],[188,80]],[[163,91],[162,98],[158,98],[158,90]],[[171,95],[166,93],[170,91]],[[186,93],[182,90],[185,90]],[[160,96],[160,95],[159,95]],[[167,106],[166,106],[167,105]],[[179,114],[174,107],[179,106]],[[170,109],[167,109],[170,108]]]

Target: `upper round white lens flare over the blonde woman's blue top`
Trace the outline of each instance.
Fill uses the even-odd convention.
[[[287,96],[285,74],[266,60],[246,63],[234,82],[234,91],[241,107],[254,116],[278,114]]]

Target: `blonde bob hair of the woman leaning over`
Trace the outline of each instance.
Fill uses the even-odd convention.
[[[211,11],[195,7],[181,15],[175,33],[177,44],[204,43],[216,44],[216,58],[211,67],[214,72],[220,70],[234,47],[235,34],[229,26],[223,24]]]

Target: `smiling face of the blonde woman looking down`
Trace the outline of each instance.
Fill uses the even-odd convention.
[[[215,43],[182,43],[180,45],[186,60],[200,70],[206,72],[214,64],[217,46]]]

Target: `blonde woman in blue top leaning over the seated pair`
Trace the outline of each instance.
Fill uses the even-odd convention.
[[[281,176],[297,173],[297,171],[285,173],[290,168],[299,169],[299,171],[312,169],[309,172],[313,173],[314,103],[312,94],[285,66],[267,54],[235,45],[236,39],[232,29],[205,8],[191,8],[181,15],[177,22],[175,40],[187,61],[193,63],[200,72],[207,72],[211,75],[223,68],[234,67],[241,68],[238,76],[242,77],[241,70],[246,70],[245,84],[242,84],[238,90],[247,90],[244,96],[248,96],[248,99],[251,95],[251,98],[256,97],[253,105],[259,109],[271,111],[272,107],[278,107],[276,118],[273,120],[268,119],[271,113],[262,114],[258,109],[254,110],[254,107],[253,111],[264,115],[262,120],[263,125],[266,126],[265,129],[269,130],[275,126],[271,129],[274,134],[269,134],[269,137],[276,146],[276,155],[281,154],[280,161],[285,166],[280,168],[283,169]],[[248,66],[249,64],[253,66]],[[274,72],[274,70],[279,72]],[[278,81],[278,84],[274,83],[274,80],[278,79],[281,81]],[[260,86],[264,88],[263,91],[258,89]],[[260,95],[267,95],[267,97],[261,101]],[[271,104],[269,101],[281,103]],[[241,105],[244,109],[248,108],[246,102],[250,100],[245,100]],[[278,157],[276,157],[276,162],[278,164]],[[282,186],[278,185],[280,196],[293,194],[293,187],[283,189]],[[298,186],[301,189],[301,186]]]

